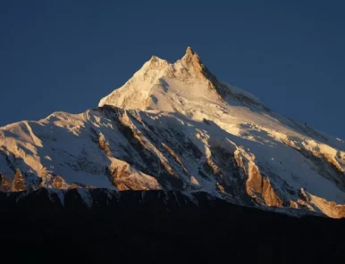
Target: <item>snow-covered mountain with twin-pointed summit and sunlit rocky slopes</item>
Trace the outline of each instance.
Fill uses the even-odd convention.
[[[153,56],[97,109],[0,128],[4,191],[201,191],[342,218],[344,171],[343,140],[218,80],[190,48],[173,64]]]

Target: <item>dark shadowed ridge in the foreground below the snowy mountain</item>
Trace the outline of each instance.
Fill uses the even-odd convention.
[[[63,202],[62,202],[63,201]],[[2,260],[335,263],[345,222],[233,205],[206,193],[0,193]],[[95,262],[96,263],[96,262]]]

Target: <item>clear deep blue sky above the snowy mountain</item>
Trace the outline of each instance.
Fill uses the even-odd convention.
[[[0,126],[81,112],[190,45],[218,78],[345,139],[345,1],[1,1]]]

